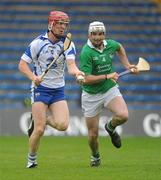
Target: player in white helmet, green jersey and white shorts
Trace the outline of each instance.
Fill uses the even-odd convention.
[[[113,117],[105,124],[116,148],[121,147],[121,139],[115,128],[128,120],[127,105],[116,83],[119,75],[113,70],[113,58],[117,54],[126,69],[137,67],[130,64],[123,46],[112,40],[105,39],[106,29],[102,22],[89,24],[88,40],[80,55],[80,69],[85,73],[82,85],[82,110],[88,129],[88,141],[91,149],[91,166],[101,163],[99,154],[98,129],[99,115],[103,108],[110,110]]]

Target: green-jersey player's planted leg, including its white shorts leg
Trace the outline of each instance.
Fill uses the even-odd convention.
[[[91,149],[91,166],[99,166],[101,163],[99,154],[98,128],[99,114],[103,109],[104,98],[102,94],[91,95],[83,91],[82,110],[86,118],[88,128],[88,142]]]

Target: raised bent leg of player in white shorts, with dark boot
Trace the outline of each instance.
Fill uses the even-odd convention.
[[[115,128],[128,120],[127,105],[122,96],[116,96],[108,103],[107,108],[113,113],[113,118],[105,125],[105,129],[109,133],[113,145],[120,148],[121,138]]]

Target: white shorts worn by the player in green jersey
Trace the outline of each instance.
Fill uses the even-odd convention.
[[[85,117],[94,117],[99,114],[115,97],[122,96],[118,86],[114,86],[103,94],[89,94],[82,92],[82,111]]]

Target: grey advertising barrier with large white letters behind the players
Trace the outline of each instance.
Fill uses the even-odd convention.
[[[26,135],[30,121],[30,109],[0,110],[0,135]],[[130,110],[129,121],[117,127],[123,136],[161,137],[161,111]],[[111,119],[110,112],[103,112],[100,119],[99,134],[106,136],[104,124]],[[65,132],[51,127],[46,128],[45,136],[86,136],[87,128],[81,111],[70,113],[70,125]]]

